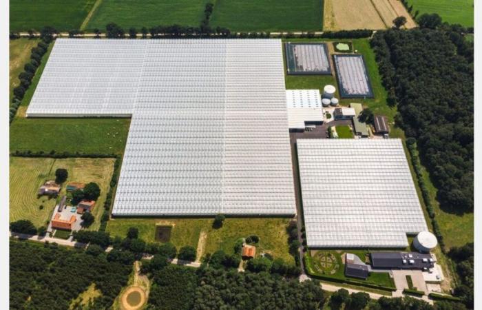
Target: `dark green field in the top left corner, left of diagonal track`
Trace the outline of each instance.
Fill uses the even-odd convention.
[[[78,29],[95,0],[10,0],[10,31]]]

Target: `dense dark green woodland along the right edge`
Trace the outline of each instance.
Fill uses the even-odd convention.
[[[473,43],[458,25],[377,32],[377,55],[395,121],[417,139],[423,165],[439,189],[441,207],[474,209]]]

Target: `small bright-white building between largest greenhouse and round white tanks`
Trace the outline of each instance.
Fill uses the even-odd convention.
[[[306,125],[323,123],[319,90],[286,90],[286,109],[290,131],[303,131]]]

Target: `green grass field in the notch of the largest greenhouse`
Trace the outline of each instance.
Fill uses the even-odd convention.
[[[20,118],[10,126],[10,152],[122,154],[129,118]]]

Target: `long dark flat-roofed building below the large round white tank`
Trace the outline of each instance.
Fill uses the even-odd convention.
[[[430,254],[417,252],[373,252],[370,254],[374,269],[430,269],[434,260]]]

